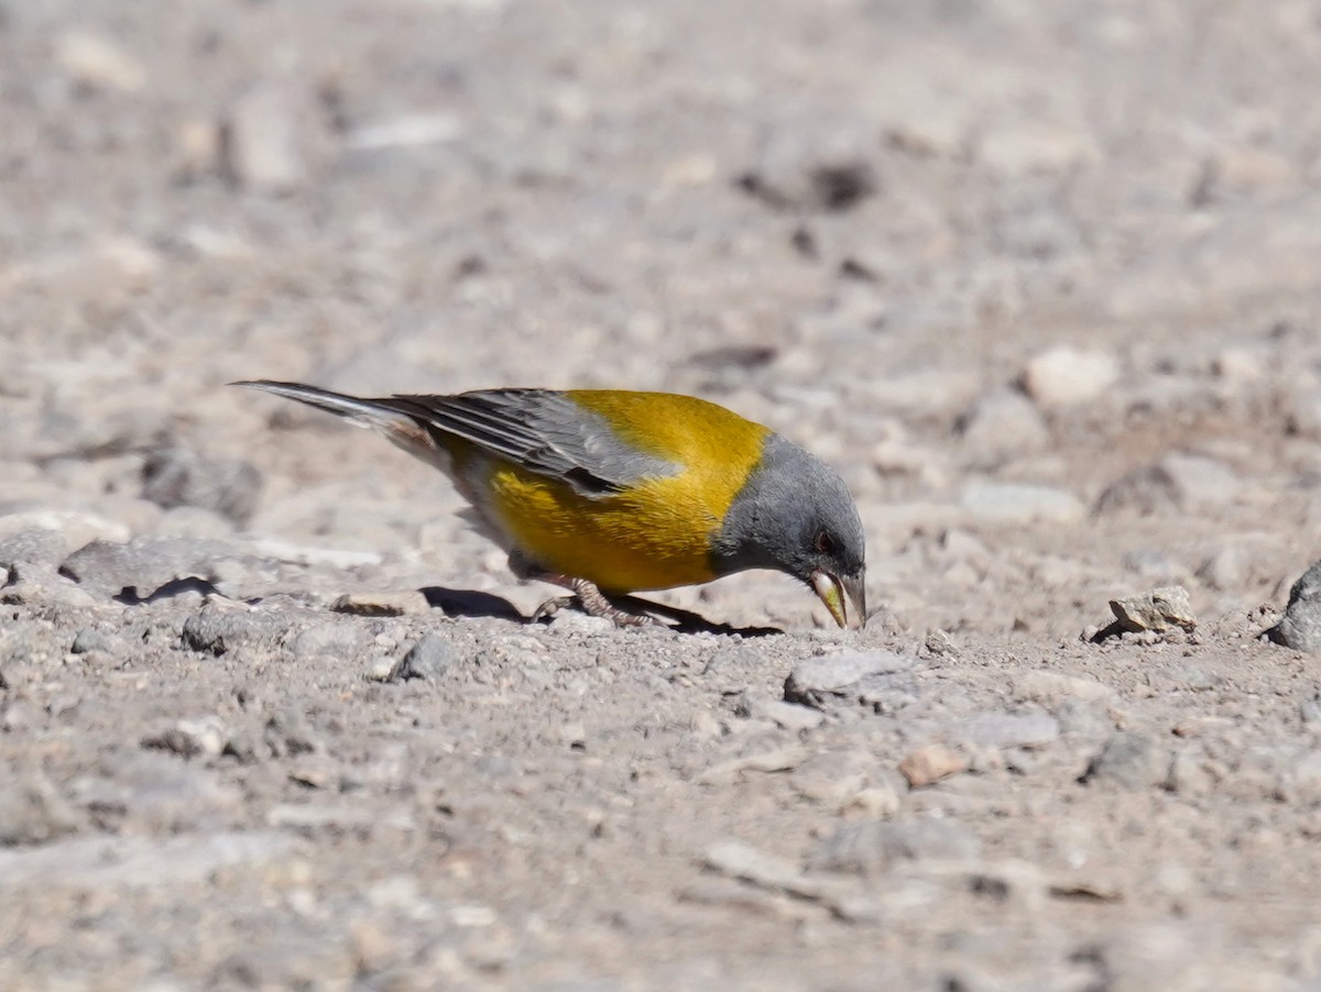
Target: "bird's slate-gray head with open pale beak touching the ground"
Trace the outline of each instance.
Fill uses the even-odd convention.
[[[712,542],[715,570],[775,569],[807,583],[844,627],[852,603],[867,623],[863,521],[844,480],[790,441],[766,438],[761,463]]]

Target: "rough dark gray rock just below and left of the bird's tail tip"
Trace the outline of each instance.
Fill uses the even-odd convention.
[[[159,507],[198,507],[247,524],[262,495],[262,475],[236,458],[207,458],[192,449],[161,447],[143,464],[143,497]]]

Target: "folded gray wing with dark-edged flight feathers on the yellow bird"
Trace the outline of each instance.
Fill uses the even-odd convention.
[[[531,472],[563,479],[584,495],[620,492],[638,479],[680,470],[674,462],[638,451],[604,417],[547,389],[394,396],[374,402]]]

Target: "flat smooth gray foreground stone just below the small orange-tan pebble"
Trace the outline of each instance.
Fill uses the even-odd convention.
[[[963,823],[922,817],[845,823],[807,861],[811,871],[880,875],[901,861],[967,861],[982,842]]]

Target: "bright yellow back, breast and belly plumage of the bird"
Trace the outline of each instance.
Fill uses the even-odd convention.
[[[639,451],[682,466],[625,492],[584,496],[493,459],[486,493],[513,543],[551,571],[606,592],[709,582],[711,541],[770,433],[715,404],[668,393],[575,390]]]

